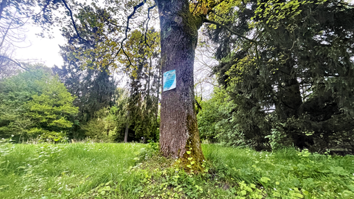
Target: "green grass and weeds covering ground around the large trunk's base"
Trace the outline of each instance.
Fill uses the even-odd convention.
[[[354,156],[204,144],[185,173],[156,144],[2,144],[0,198],[354,198]]]

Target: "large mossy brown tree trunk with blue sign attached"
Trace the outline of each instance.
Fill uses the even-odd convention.
[[[156,0],[156,3],[161,28],[161,72],[176,70],[176,88],[162,91],[161,96],[160,151],[165,156],[180,158],[184,165],[195,170],[204,159],[194,108],[193,81],[194,53],[201,23],[190,13],[187,0]]]

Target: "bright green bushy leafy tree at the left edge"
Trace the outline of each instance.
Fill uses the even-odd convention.
[[[59,141],[73,125],[77,107],[59,77],[44,66],[27,66],[31,72],[19,73],[0,82],[0,135]]]

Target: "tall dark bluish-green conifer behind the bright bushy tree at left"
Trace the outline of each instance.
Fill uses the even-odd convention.
[[[116,88],[118,82],[109,71],[109,68],[102,63],[102,53],[95,51],[97,44],[106,41],[105,35],[100,29],[104,26],[104,9],[95,10],[90,6],[78,5],[77,18],[80,25],[75,27],[80,30],[80,37],[84,40],[73,39],[75,30],[64,27],[62,34],[68,43],[61,46],[61,55],[64,59],[64,66],[55,66],[53,71],[59,75],[68,91],[77,96],[74,101],[79,107],[79,114],[76,117],[77,125],[71,137],[82,139],[85,136],[81,126],[95,119],[97,115],[102,117],[102,108],[109,108],[115,104]],[[98,13],[97,13],[98,12]],[[112,28],[106,23],[107,28]],[[74,45],[75,44],[75,45]],[[91,50],[91,53],[81,55],[81,52]],[[80,54],[80,55],[77,55]],[[100,111],[100,113],[95,113]],[[92,122],[91,122],[92,123]]]

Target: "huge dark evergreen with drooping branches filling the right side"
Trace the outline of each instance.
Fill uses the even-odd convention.
[[[348,105],[353,102],[353,6],[250,1],[237,10],[228,14],[238,19],[229,21],[230,27],[257,41],[210,32],[220,44],[216,57],[221,64],[215,71],[239,105],[236,114],[258,121],[252,126],[240,122],[239,131],[258,146],[280,142],[323,151],[339,144],[353,150],[346,139],[354,127]]]

